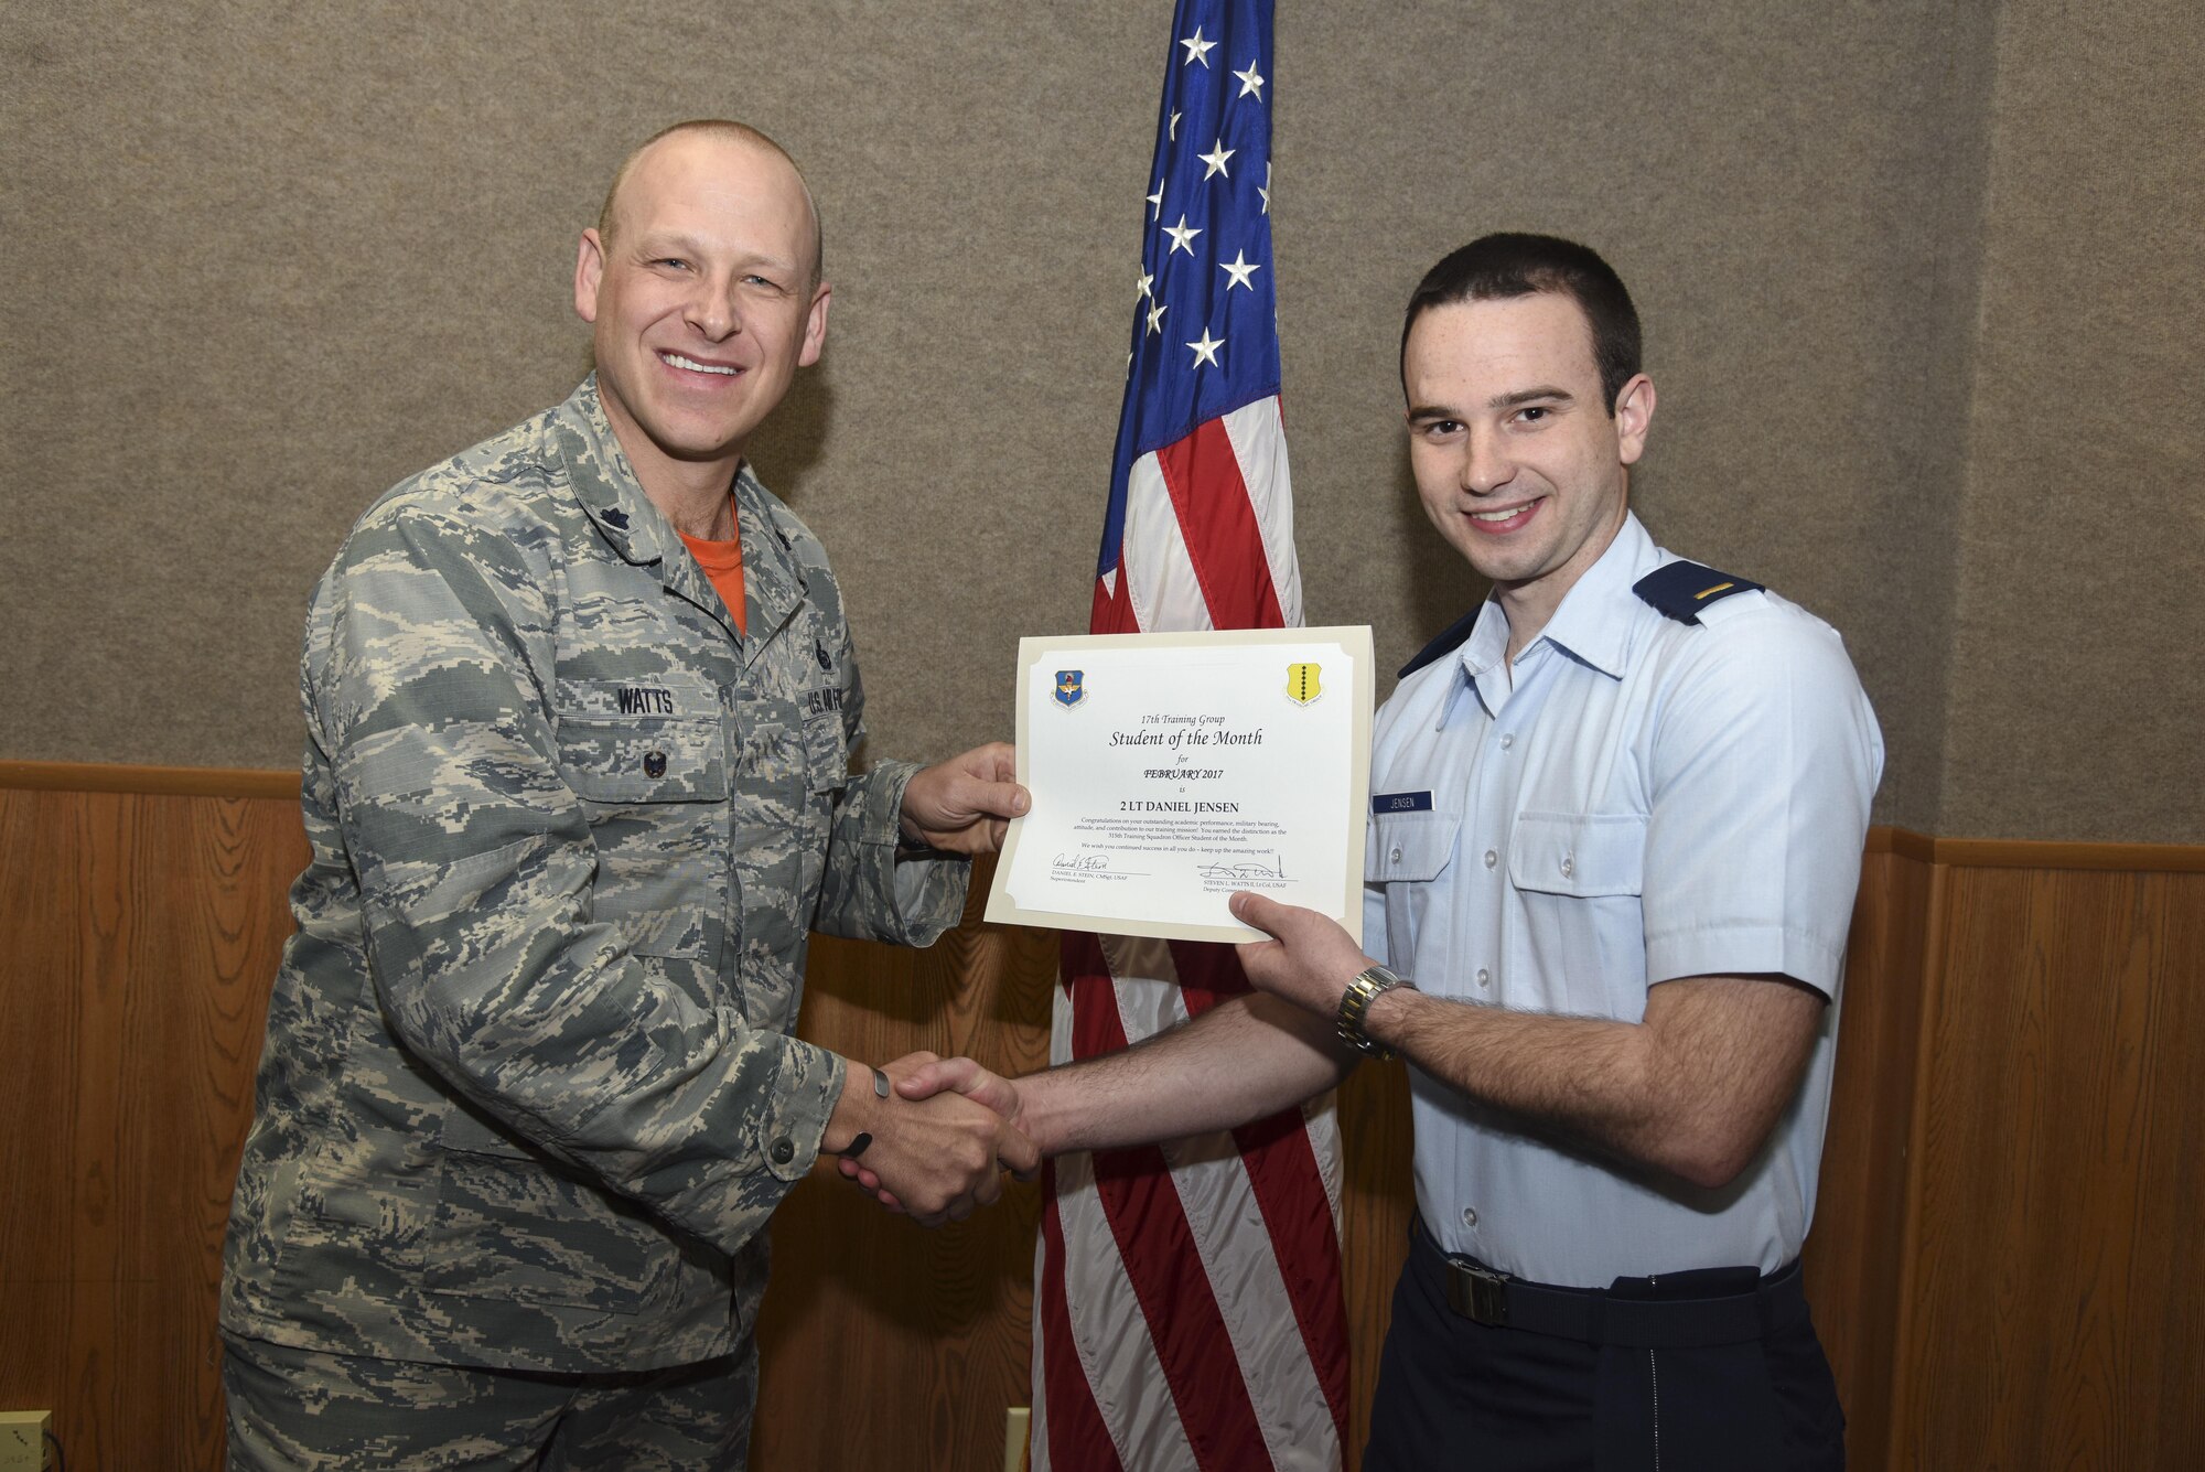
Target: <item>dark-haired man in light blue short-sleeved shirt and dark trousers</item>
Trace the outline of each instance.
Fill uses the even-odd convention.
[[[1411,1067],[1420,1223],[1365,1465],[1839,1468],[1799,1294],[1874,712],[1826,624],[1629,513],[1654,383],[1585,247],[1486,236],[1402,333],[1409,454],[1493,597],[1378,716],[1367,917],[1235,895],[1257,992],[1012,1089],[1043,1152]]]

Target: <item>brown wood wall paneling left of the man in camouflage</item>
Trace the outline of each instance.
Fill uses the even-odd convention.
[[[284,800],[0,791],[0,1401],[79,1468],[220,1461],[214,1289],[269,978]]]

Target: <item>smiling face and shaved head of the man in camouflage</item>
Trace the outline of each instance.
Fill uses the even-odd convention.
[[[725,494],[827,337],[803,178],[767,145],[675,132],[635,159],[611,218],[609,240],[582,231],[573,273],[604,414],[653,500]]]

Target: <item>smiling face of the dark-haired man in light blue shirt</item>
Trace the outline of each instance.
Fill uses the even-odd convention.
[[[1654,383],[1629,379],[1610,414],[1583,309],[1537,291],[1422,313],[1402,388],[1424,516],[1493,580],[1517,650],[1623,527]]]

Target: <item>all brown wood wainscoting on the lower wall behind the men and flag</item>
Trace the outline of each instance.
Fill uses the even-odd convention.
[[[306,853],[295,798],[278,776],[152,795],[15,767],[0,1404],[53,1408],[77,1472],[214,1468],[220,1234]],[[1806,1263],[1854,1468],[2185,1465],[2205,1446],[2205,853],[1883,840]],[[975,899],[928,952],[816,941],[800,1027],[869,1062],[926,1047],[1017,1073],[1045,1060],[1054,976],[1054,932],[983,926]],[[1354,1470],[1411,1210],[1405,1071],[1360,1069],[1338,1108]],[[754,1465],[992,1472],[1028,1397],[1036,1216],[1023,1186],[928,1234],[831,1172],[798,1186]]]

